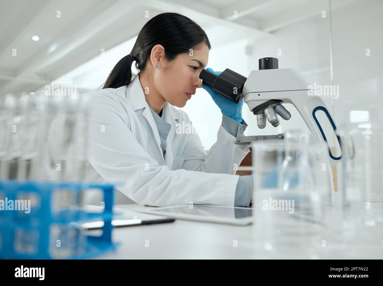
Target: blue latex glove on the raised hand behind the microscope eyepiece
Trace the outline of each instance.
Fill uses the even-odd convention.
[[[209,72],[215,73],[216,75],[220,75],[221,72],[214,72],[211,68],[206,68]],[[242,119],[242,106],[244,99],[242,98],[240,102],[235,103],[230,99],[225,98],[221,94],[217,94],[216,91],[213,90],[210,86],[202,85],[202,88],[205,89],[213,98],[214,102],[217,104],[219,109],[221,109],[222,114],[229,116],[230,118],[236,120],[239,123],[243,122]]]

